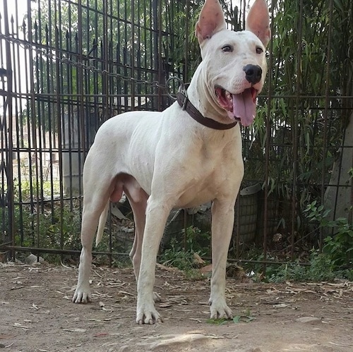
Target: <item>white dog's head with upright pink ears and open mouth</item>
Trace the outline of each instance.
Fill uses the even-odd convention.
[[[255,0],[246,30],[226,29],[218,0],[205,0],[196,23],[208,93],[232,120],[249,126],[256,114],[256,97],[267,71],[265,47],[270,41],[270,18],[265,0]]]

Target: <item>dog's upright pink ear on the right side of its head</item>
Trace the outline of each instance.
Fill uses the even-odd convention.
[[[270,15],[268,13],[268,6],[265,0],[255,0],[251,6],[249,15],[246,18],[246,30],[250,30],[263,42],[267,47],[270,42]]]

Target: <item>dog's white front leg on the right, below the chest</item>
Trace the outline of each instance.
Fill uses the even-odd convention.
[[[232,318],[232,310],[225,301],[225,275],[233,226],[234,202],[215,200],[212,205],[211,319]]]

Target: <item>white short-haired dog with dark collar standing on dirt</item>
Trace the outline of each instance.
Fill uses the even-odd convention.
[[[131,111],[102,124],[83,169],[82,252],[73,302],[90,301],[92,243],[102,238],[109,200],[124,192],[136,224],[130,253],[137,280],[136,322],[161,322],[154,300],[157,251],[169,212],[212,200],[211,318],[232,317],[225,268],[244,165],[240,124],[249,126],[266,72],[270,40],[265,0],[246,30],[226,29],[218,0],[205,0],[196,24],[203,61],[178,102],[162,112]],[[187,97],[186,97],[187,95]],[[239,122],[239,123],[238,123]]]

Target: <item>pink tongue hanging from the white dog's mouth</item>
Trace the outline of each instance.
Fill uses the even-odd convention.
[[[243,126],[251,125],[255,119],[256,103],[253,102],[250,89],[233,95],[233,114],[240,119]]]

